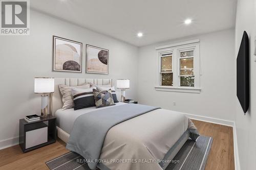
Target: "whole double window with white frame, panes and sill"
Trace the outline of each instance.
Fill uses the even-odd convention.
[[[199,40],[157,47],[159,84],[156,90],[200,92]]]

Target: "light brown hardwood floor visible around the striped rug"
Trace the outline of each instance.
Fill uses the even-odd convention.
[[[232,127],[193,120],[201,135],[214,138],[206,170],[234,169],[233,131]],[[28,153],[23,153],[19,145],[0,151],[0,169],[49,169],[45,162],[69,152],[66,143],[58,139]]]

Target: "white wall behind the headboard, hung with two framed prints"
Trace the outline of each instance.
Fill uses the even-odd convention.
[[[0,37],[0,149],[17,142],[17,138],[6,139],[18,136],[20,118],[40,114],[40,95],[33,93],[34,77],[129,78],[127,97],[137,98],[138,47],[35,11],[30,18],[29,36]],[[83,43],[81,74],[52,71],[53,35]],[[109,75],[85,74],[86,44],[110,50]]]

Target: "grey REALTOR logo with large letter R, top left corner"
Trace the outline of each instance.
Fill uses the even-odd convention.
[[[1,1],[1,35],[29,35],[29,0]]]

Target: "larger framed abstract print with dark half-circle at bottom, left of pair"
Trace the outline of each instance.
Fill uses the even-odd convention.
[[[53,36],[53,71],[82,72],[82,43]]]

